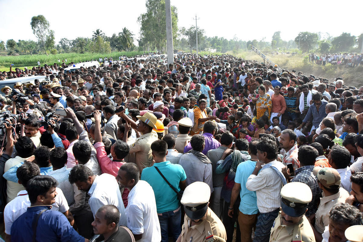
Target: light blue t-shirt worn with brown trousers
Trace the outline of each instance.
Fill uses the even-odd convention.
[[[241,213],[248,215],[258,213],[256,192],[246,188],[247,179],[252,174],[255,166],[256,161],[252,160],[240,163],[237,167],[236,177],[234,177],[234,182],[241,184],[241,202],[238,209]]]

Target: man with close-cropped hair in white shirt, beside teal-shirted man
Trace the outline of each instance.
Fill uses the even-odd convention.
[[[161,232],[154,190],[139,180],[139,168],[135,163],[123,164],[116,179],[121,188],[129,189],[129,204],[125,209],[127,227],[134,234],[135,241],[160,242]]]

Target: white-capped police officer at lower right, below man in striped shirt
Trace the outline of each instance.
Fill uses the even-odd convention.
[[[302,182],[287,183],[281,189],[281,211],[270,234],[270,242],[315,242],[314,232],[304,215],[313,194]]]

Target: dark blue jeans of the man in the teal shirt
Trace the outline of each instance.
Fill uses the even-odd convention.
[[[169,227],[172,233],[173,241],[175,242],[181,233],[181,209],[180,207],[174,211],[168,211],[164,213],[158,213],[160,230],[161,230],[161,241],[169,241]]]

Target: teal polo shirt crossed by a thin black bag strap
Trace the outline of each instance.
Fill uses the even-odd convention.
[[[158,167],[166,180],[179,192],[179,182],[187,179],[183,167],[179,164],[171,164],[170,161],[155,163],[152,167],[142,170],[141,180],[146,181],[152,187],[155,194],[156,210],[158,213],[173,211],[179,208],[179,200],[176,193],[166,183],[155,167]]]

